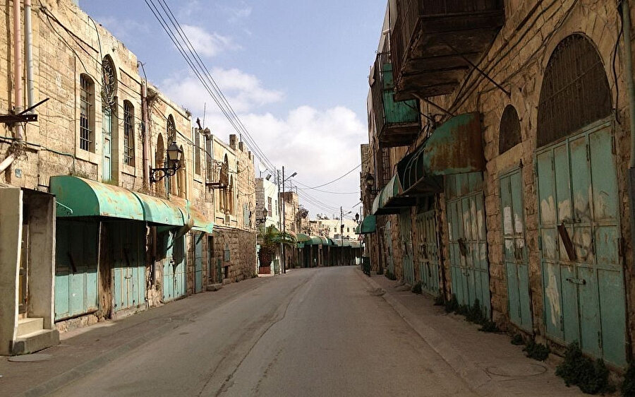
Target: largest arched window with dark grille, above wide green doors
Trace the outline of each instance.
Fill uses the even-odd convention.
[[[538,146],[564,138],[609,116],[612,100],[602,59],[587,37],[557,45],[545,71],[538,103]]]

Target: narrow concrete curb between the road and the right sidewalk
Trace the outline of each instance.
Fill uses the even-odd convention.
[[[373,278],[367,275],[360,274],[368,284],[373,288],[382,288],[379,284],[373,280]],[[382,288],[383,289],[383,288]],[[411,326],[413,330],[418,333],[419,336],[428,343],[447,364],[459,374],[459,376],[466,381],[470,389],[478,393],[480,396],[504,396],[507,392],[497,385],[497,382],[490,378],[483,369],[480,369],[476,362],[469,360],[461,354],[459,350],[454,348],[447,339],[433,328],[425,324],[421,319],[418,319],[407,309],[403,304],[399,303],[389,293],[382,295],[384,300],[393,307],[395,312],[401,316],[406,324]]]

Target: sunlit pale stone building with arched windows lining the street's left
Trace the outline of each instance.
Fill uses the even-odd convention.
[[[200,292],[221,275],[251,277],[255,181],[243,143],[193,129],[140,75],[135,54],[73,1],[4,13],[0,354],[38,350],[57,329]],[[20,60],[31,37],[22,30],[32,32],[32,60]],[[19,114],[42,100],[37,121]],[[182,160],[166,177],[157,169],[172,166],[174,148]]]

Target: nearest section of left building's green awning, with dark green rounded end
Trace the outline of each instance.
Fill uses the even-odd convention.
[[[128,189],[102,184],[79,177],[60,175],[51,177],[50,191],[56,201],[73,211],[57,208],[59,218],[103,216],[143,221],[143,206]],[[182,220],[182,218],[181,218]]]

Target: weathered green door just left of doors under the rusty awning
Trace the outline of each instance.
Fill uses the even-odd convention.
[[[439,244],[437,244],[437,218],[435,211],[418,213],[416,218],[418,244],[418,268],[422,288],[433,296],[440,295]]]

